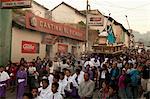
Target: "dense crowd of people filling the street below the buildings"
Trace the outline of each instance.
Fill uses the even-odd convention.
[[[7,86],[16,90],[16,99],[149,99],[149,84],[150,51],[145,50],[114,57],[22,58],[0,66],[0,99]]]

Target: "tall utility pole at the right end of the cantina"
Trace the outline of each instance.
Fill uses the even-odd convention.
[[[89,12],[88,10],[89,10],[89,9],[88,9],[88,8],[89,8],[89,1],[87,0],[87,1],[86,1],[86,42],[85,42],[85,52],[88,52],[88,51],[89,51],[89,43],[88,43],[88,42],[89,42],[89,41],[88,41],[88,38],[89,38],[89,37],[88,37],[88,32],[89,32],[89,31],[88,31],[88,29],[89,29],[89,28],[88,28],[88,12]]]

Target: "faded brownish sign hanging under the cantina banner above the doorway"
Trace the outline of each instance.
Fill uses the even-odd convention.
[[[51,45],[51,44],[55,44],[57,40],[58,40],[58,36],[45,34],[43,35],[41,43]]]

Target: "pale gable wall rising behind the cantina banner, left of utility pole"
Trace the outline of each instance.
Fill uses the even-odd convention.
[[[52,20],[60,23],[75,23],[80,21],[85,23],[86,18],[77,14],[70,7],[62,4],[52,11]]]

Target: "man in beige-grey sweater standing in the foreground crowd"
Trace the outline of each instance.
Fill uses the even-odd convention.
[[[95,84],[89,77],[89,73],[84,73],[84,81],[79,85],[78,93],[81,99],[92,99]]]

